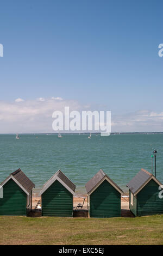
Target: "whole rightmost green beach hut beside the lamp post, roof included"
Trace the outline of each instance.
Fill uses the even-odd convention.
[[[163,214],[163,199],[159,197],[161,182],[152,173],[141,169],[127,184],[129,208],[135,216]]]

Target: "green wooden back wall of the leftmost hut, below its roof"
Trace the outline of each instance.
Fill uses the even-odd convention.
[[[0,198],[0,215],[25,215],[27,208],[26,193],[10,179],[3,186],[3,198]]]

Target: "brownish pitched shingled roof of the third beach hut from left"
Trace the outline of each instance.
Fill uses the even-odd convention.
[[[93,190],[93,188],[95,188],[102,180],[104,179],[108,179],[108,181],[110,182],[110,184],[112,186],[114,186],[116,188],[116,190],[120,193],[123,193],[123,191],[121,190],[120,187],[118,187],[118,185],[109,178],[108,175],[106,175],[104,173],[104,171],[101,169],[99,170],[98,173],[96,173],[92,179],[90,179],[86,184],[85,184],[85,188],[86,188],[86,192],[87,194],[90,194],[90,192]]]

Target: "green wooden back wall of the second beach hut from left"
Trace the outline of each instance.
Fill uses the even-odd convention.
[[[42,216],[72,217],[73,195],[58,180],[41,196]]]

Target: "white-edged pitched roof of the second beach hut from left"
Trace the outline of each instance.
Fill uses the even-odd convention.
[[[73,195],[75,195],[76,185],[73,184],[73,182],[67,178],[67,176],[61,172],[61,170],[58,170],[42,187],[42,190],[40,191],[40,195],[47,190],[49,186],[53,184],[55,180],[58,180],[63,186],[67,188],[68,191],[70,191]]]

